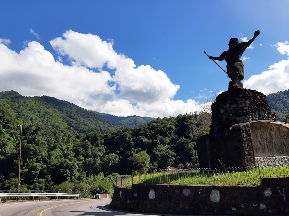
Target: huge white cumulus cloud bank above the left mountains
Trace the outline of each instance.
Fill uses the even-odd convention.
[[[0,42],[0,91],[48,95],[118,116],[165,117],[197,110],[192,99],[173,99],[179,85],[165,72],[137,67],[113,49],[113,40],[66,31],[50,41],[56,57],[39,42],[29,42],[19,53],[6,46],[10,40]]]

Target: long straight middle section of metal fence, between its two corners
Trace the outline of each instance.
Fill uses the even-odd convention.
[[[257,169],[165,169],[154,172],[133,171],[132,183],[169,185],[258,185],[260,174]]]

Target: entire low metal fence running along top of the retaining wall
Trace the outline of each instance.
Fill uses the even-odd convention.
[[[117,185],[138,183],[168,185],[260,185],[262,178],[289,177],[288,160],[266,158],[256,167],[215,169],[133,170],[132,176],[119,176]],[[120,183],[121,181],[121,183]]]

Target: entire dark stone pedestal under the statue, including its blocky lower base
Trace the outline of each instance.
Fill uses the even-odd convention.
[[[255,167],[250,123],[276,121],[266,96],[250,89],[230,89],[211,105],[210,134],[197,139],[201,168]]]

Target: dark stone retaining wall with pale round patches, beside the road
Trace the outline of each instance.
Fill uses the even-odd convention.
[[[260,186],[116,186],[110,207],[143,213],[288,215],[288,183],[289,178],[265,178]]]

